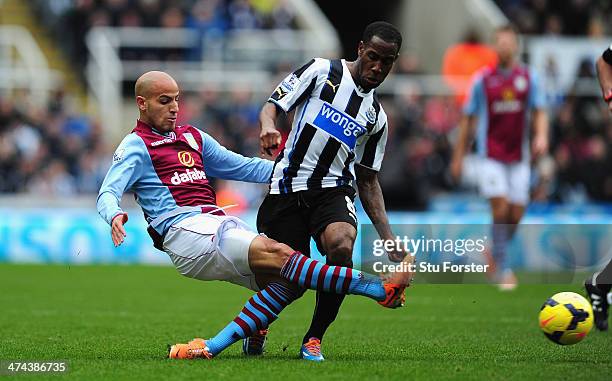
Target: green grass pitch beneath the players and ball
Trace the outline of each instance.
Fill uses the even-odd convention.
[[[539,331],[539,308],[558,291],[581,292],[415,285],[402,310],[349,296],[321,364],[297,358],[309,292],[274,323],[263,358],[244,358],[235,344],[213,361],[172,361],[166,344],[213,335],[251,292],[169,267],[0,265],[0,360],[67,360],[66,375],[34,376],[53,380],[610,380],[612,334],[563,347]]]

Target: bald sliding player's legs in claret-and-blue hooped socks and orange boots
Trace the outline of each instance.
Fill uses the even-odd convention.
[[[255,254],[251,256],[252,251]],[[410,256],[404,259],[406,264],[410,261]],[[347,267],[325,265],[261,236],[255,238],[249,248],[249,264],[255,274],[280,275],[302,288],[367,296],[388,308],[403,305],[404,289],[410,279],[410,273],[397,272],[383,283],[379,277]],[[211,359],[236,341],[266,329],[298,295],[282,282],[272,282],[251,297],[240,314],[215,337],[175,344],[169,348],[168,357]]]

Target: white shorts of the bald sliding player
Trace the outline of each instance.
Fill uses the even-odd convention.
[[[203,213],[170,226],[164,250],[186,277],[259,291],[249,267],[249,246],[257,235],[237,217]]]

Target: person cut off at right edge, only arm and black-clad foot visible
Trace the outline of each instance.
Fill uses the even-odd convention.
[[[597,59],[597,77],[608,110],[612,113],[612,45]],[[612,303],[612,260],[600,272],[584,282],[587,295],[593,305],[595,326],[600,331],[608,330],[608,308]]]

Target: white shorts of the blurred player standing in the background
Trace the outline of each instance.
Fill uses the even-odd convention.
[[[502,163],[485,157],[478,164],[478,189],[486,198],[505,197],[511,204],[529,202],[529,162]]]

